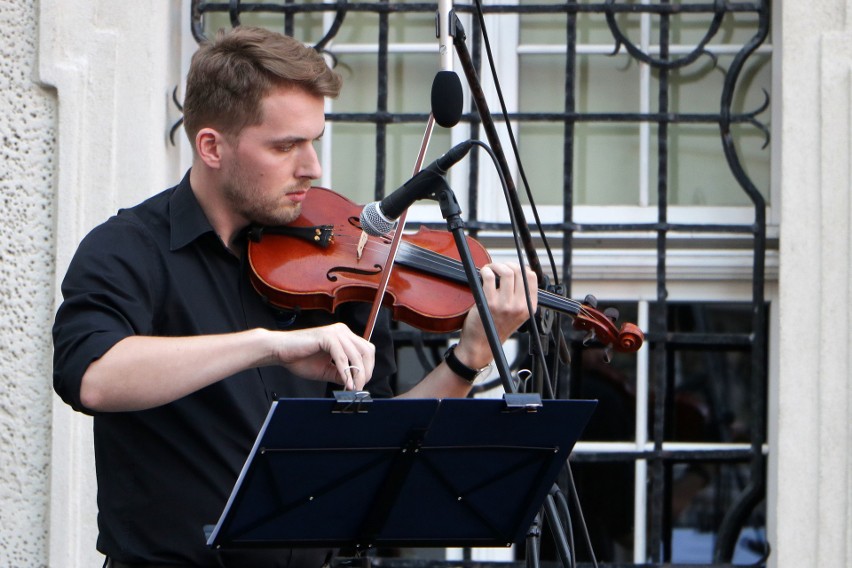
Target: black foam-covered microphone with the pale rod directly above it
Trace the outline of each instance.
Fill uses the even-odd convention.
[[[464,96],[461,80],[453,71],[453,34],[454,23],[452,0],[438,0],[438,12],[435,15],[438,53],[441,57],[441,70],[432,81],[432,116],[440,126],[452,128],[461,120],[464,110]]]

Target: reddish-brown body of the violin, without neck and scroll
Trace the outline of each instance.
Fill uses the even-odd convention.
[[[390,238],[369,236],[359,257],[361,209],[329,189],[312,188],[302,203],[301,216],[291,223],[291,227],[309,231],[264,232],[260,240],[250,240],[248,261],[258,293],[282,308],[333,311],[344,302],[372,302],[387,263]],[[328,230],[328,226],[332,236],[323,246],[322,239],[314,238],[321,229],[314,229]],[[403,241],[459,259],[455,241],[447,231],[421,227],[417,233],[404,235]],[[490,262],[478,241],[469,238],[468,243],[477,266]],[[466,283],[397,265],[382,303],[398,321],[444,333],[461,328],[474,300]]]

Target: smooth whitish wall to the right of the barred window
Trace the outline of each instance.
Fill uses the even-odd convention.
[[[771,540],[779,566],[850,566],[852,2],[782,11]]]

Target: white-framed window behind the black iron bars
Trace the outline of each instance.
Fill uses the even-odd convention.
[[[477,9],[455,4],[496,115]],[[322,185],[366,203],[411,176],[438,68],[435,5],[268,2],[241,10],[239,2],[193,1],[203,33],[242,23],[323,41],[344,75],[341,97],[327,108]],[[597,558],[755,561],[765,553],[764,287],[777,230],[769,3],[522,0],[485,2],[482,11],[553,247],[555,266],[542,255],[544,270],[568,296],[593,293],[647,332],[636,355],[602,365],[600,350],[564,324],[573,357],[555,373],[556,393],[600,400],[572,457]],[[469,92],[465,109],[458,126],[435,130],[427,160],[483,138]],[[531,223],[520,171],[507,159]],[[507,206],[493,170],[479,152],[449,180],[472,231],[495,257],[509,258]],[[436,209],[413,207],[409,228],[440,227]],[[448,339],[400,326],[399,357],[410,370],[400,385],[434,364]],[[523,367],[520,343],[507,350]],[[578,558],[587,554],[580,537]]]

